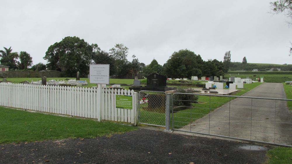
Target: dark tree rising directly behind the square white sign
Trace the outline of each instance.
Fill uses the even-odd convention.
[[[95,51],[92,56],[93,63],[95,64],[109,64],[109,75],[114,75],[116,73],[116,66],[114,57],[109,55],[105,51]]]

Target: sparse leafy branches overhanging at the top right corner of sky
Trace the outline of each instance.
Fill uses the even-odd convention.
[[[278,0],[274,2],[270,2],[271,4],[271,9],[273,10],[274,13],[279,14],[283,13],[284,15],[290,19],[292,19],[292,0]],[[292,20],[287,21],[289,27],[292,25]],[[290,42],[291,47],[290,47],[290,54],[289,56],[292,55],[292,43]]]

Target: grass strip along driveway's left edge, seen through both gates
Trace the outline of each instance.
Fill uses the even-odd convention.
[[[259,86],[262,83],[252,83],[252,84],[244,84],[244,87],[247,89],[241,89],[241,91],[234,94],[234,96],[241,96],[251,89]],[[175,99],[175,97],[173,98]],[[218,97],[218,96],[204,96],[200,95],[198,102],[192,103],[192,108],[190,106],[185,110],[180,110],[179,112],[174,112],[174,128],[180,128],[181,126],[185,126],[190,124],[190,122],[195,121],[201,117],[204,117],[210,111],[217,109],[218,107],[224,105],[229,102],[229,100],[233,100],[234,98],[228,97]],[[209,100],[211,103],[209,104]],[[140,106],[140,122],[154,125],[165,125],[165,114],[159,112],[150,112],[143,110],[142,107],[147,107],[147,104],[143,104]],[[162,120],[162,121],[161,121]]]

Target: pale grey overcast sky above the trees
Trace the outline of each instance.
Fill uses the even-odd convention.
[[[109,51],[116,43],[139,61],[163,65],[171,54],[188,49],[203,60],[292,64],[292,28],[283,14],[272,14],[275,0],[2,0],[0,49],[26,51],[42,62],[50,45],[77,36]]]

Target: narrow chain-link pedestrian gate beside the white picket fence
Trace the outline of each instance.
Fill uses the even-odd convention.
[[[140,91],[138,100],[140,124],[165,126],[165,92]]]

